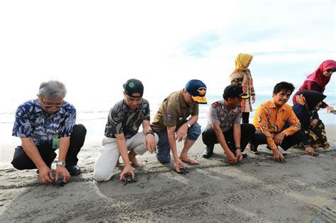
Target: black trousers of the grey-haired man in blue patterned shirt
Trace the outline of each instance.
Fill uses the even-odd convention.
[[[67,166],[77,165],[77,154],[83,147],[85,136],[86,128],[84,125],[74,125],[72,134],[70,136],[69,149],[65,158]],[[52,149],[51,143],[41,144],[38,146],[38,151],[40,152],[40,155],[47,166],[51,166],[52,161],[54,161],[56,158],[57,154],[55,153],[55,150],[56,149]],[[18,170],[37,168],[34,162],[27,156],[22,146],[15,148],[13,161],[11,161],[11,164]]]

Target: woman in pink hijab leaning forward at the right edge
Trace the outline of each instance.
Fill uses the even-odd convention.
[[[318,69],[315,69],[313,74],[307,76],[306,80],[303,81],[302,86],[298,89],[298,92],[303,90],[313,90],[323,93],[325,91],[325,86],[330,81],[332,73],[336,72],[336,61],[332,59],[325,60],[320,64]],[[296,105],[296,95],[293,96],[293,105]],[[327,105],[327,103],[323,102],[320,105],[320,108],[325,108],[328,113],[336,113],[335,109],[332,106]]]

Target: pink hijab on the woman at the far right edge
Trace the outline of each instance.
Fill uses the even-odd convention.
[[[320,64],[318,69],[313,72],[313,74],[310,74],[307,76],[307,79],[305,81],[314,81],[318,86],[322,88],[322,91],[325,90],[325,86],[330,81],[331,76],[324,76],[323,72],[325,72],[327,69],[336,69],[336,61],[332,59],[325,60]]]

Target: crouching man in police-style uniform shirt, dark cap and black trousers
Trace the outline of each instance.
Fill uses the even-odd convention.
[[[204,158],[213,154],[213,147],[219,143],[231,164],[243,159],[244,151],[250,138],[254,135],[254,125],[240,124],[242,108],[240,102],[250,98],[242,86],[229,85],[224,89],[223,101],[212,103],[208,110],[208,126],[202,133],[206,149]]]

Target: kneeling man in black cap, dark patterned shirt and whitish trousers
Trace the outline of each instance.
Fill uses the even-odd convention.
[[[123,84],[123,100],[116,103],[108,114],[103,147],[94,166],[94,179],[108,181],[113,176],[119,156],[124,168],[121,181],[130,174],[135,178],[131,166],[144,166],[137,158],[146,151],[153,153],[157,144],[157,135],[150,127],[150,104],[142,98],[144,87],[138,79],[129,79]],[[139,127],[142,125],[142,132]]]

